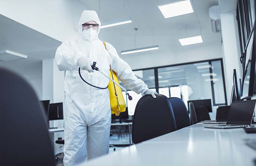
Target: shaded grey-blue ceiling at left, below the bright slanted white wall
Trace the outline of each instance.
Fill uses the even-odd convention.
[[[53,58],[61,42],[1,14],[0,23],[0,50],[27,55],[27,59],[0,61],[0,66],[31,78],[42,77],[42,60]]]

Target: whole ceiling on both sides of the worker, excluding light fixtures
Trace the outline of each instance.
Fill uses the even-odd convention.
[[[151,45],[160,47],[159,50],[152,51],[152,53],[181,52],[221,42],[220,33],[213,33],[211,30],[208,14],[208,8],[217,5],[218,0],[191,0],[194,13],[172,18],[164,18],[157,5],[174,0],[77,1],[85,9],[97,11],[102,25],[128,18],[132,19],[132,23],[105,28],[99,34],[99,38],[114,45],[118,53],[122,50]],[[201,31],[198,22],[201,23]],[[3,15],[0,15],[0,23],[0,50],[9,49],[28,56],[27,59],[11,62],[0,61],[0,66],[5,66],[31,78],[42,77],[42,60],[54,58],[55,51],[61,42]],[[136,38],[134,28],[138,28]],[[204,42],[189,46],[181,46],[178,42],[179,38],[194,35],[202,35]],[[136,54],[136,56],[142,57],[144,55],[144,53]],[[120,55],[120,57],[128,60],[127,57],[132,56]]]

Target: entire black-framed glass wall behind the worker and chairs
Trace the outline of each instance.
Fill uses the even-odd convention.
[[[188,100],[203,99],[211,99],[213,106],[227,104],[222,59],[141,69],[134,73],[151,90],[166,97],[181,98],[186,106]],[[128,100],[128,114],[133,115],[142,96],[126,89],[133,98]],[[125,92],[123,94],[125,96]]]

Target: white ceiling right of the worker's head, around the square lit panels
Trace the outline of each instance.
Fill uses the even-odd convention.
[[[118,53],[136,46],[140,48],[151,45],[159,45],[160,49],[171,51],[191,49],[198,45],[184,47],[178,39],[195,35],[202,35],[204,42],[200,46],[221,41],[220,33],[212,32],[208,14],[209,7],[217,5],[218,0],[191,0],[194,13],[171,18],[164,18],[157,6],[174,0],[149,0],[147,3],[145,0],[79,1],[99,14],[102,25],[132,19],[132,23],[101,30],[100,37],[116,46]],[[134,28],[138,28],[136,39]]]

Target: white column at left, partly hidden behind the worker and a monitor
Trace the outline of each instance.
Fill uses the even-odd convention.
[[[63,102],[64,108],[64,72],[59,71],[56,65],[55,59],[46,59],[43,60],[43,100],[50,100],[50,103],[60,103]],[[50,121],[50,127],[63,128],[63,120]],[[56,132],[52,136],[54,141],[55,154],[63,152],[63,147],[60,148],[59,144],[56,144],[55,141],[62,137],[64,139],[63,132]]]

